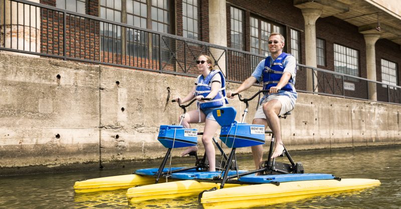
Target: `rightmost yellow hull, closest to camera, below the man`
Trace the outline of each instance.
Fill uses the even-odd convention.
[[[269,205],[322,195],[379,185],[376,179],[345,178],[341,181],[306,180],[282,182],[279,186],[266,183],[224,188],[204,192],[200,203],[204,208],[239,208]]]

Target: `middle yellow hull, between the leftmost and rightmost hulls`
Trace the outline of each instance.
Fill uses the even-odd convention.
[[[225,188],[240,185],[228,183],[225,184]],[[220,183],[179,180],[129,188],[127,190],[127,198],[128,202],[131,203],[150,199],[177,198],[198,195],[200,192],[213,187],[220,188]]]

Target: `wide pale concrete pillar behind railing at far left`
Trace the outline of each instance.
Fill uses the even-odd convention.
[[[39,3],[39,0],[30,0]],[[5,12],[5,13],[4,13]],[[25,51],[40,52],[40,8],[24,3],[0,1],[0,45]],[[26,56],[39,56],[27,53]]]

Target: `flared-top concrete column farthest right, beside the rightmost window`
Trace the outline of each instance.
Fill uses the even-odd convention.
[[[363,34],[366,44],[366,71],[367,79],[376,80],[376,53],[374,44],[380,38],[380,34]],[[377,101],[376,83],[368,82],[368,98]]]

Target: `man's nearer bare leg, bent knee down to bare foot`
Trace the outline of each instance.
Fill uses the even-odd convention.
[[[272,99],[263,105],[263,112],[265,112],[269,126],[276,138],[275,148],[271,158],[280,156],[284,151],[283,141],[281,140],[281,125],[278,116],[280,110],[281,102],[278,99]]]

